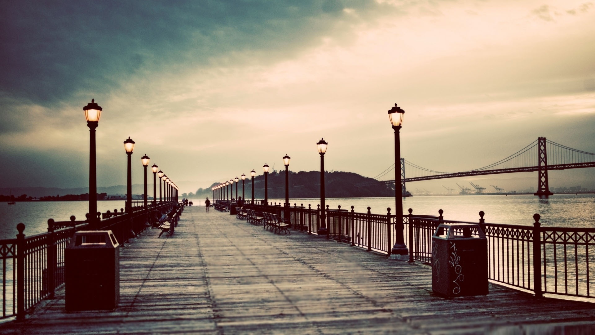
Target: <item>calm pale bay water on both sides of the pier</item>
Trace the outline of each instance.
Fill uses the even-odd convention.
[[[203,206],[203,199],[192,199],[194,206]],[[282,199],[271,202],[283,203]],[[292,205],[303,204],[316,208],[320,199],[291,199]],[[327,198],[329,208],[386,214],[387,207],[394,209],[394,198]],[[101,212],[124,207],[124,201],[98,201],[97,209]],[[414,214],[438,215],[444,210],[444,219],[477,222],[478,213],[483,210],[486,222],[493,224],[532,225],[533,214],[541,215],[541,224],[549,227],[585,227],[595,228],[595,194],[563,194],[549,199],[536,196],[430,196],[403,198],[403,213],[412,208]],[[86,201],[29,201],[15,205],[0,204],[0,239],[14,238],[17,224],[26,225],[25,234],[33,235],[47,231],[49,218],[55,221],[68,221],[71,215],[84,219],[89,204]],[[392,210],[394,213],[394,210]]]

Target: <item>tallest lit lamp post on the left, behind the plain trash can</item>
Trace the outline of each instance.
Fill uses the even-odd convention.
[[[95,99],[83,107],[84,117],[89,127],[89,224],[97,229],[97,159],[95,152],[95,129],[99,125],[102,108]]]

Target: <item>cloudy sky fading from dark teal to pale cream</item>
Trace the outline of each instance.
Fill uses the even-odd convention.
[[[394,103],[402,156],[425,168],[480,168],[537,137],[595,152],[590,0],[23,0],[0,17],[0,187],[86,187],[92,98],[99,186],[126,183],[128,137],[133,182],[147,154],[182,192],[285,154],[318,170],[321,137],[325,168],[374,177],[394,163]],[[595,188],[593,170],[550,185]],[[536,188],[537,172],[408,188],[469,181]]]

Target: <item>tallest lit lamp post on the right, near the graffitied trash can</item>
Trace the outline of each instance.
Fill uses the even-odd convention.
[[[390,250],[390,258],[400,259],[400,256],[408,255],[409,250],[403,238],[403,191],[401,187],[401,148],[399,131],[403,123],[405,111],[397,104],[389,110],[389,120],[394,129],[394,219],[395,241],[393,249]],[[397,168],[398,167],[398,168]]]

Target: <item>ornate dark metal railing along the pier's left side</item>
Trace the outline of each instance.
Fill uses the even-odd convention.
[[[125,243],[145,229],[151,212],[164,212],[175,204],[163,203],[147,209],[137,207],[130,214],[108,215],[109,218],[99,222],[99,229],[111,230],[118,241]],[[55,290],[64,284],[64,250],[70,238],[74,232],[90,228],[86,221],[76,221],[71,216],[70,221],[49,219],[48,232],[29,237],[25,237],[25,225],[18,224],[17,238],[0,240],[1,318],[22,319],[33,305],[54,297]]]

